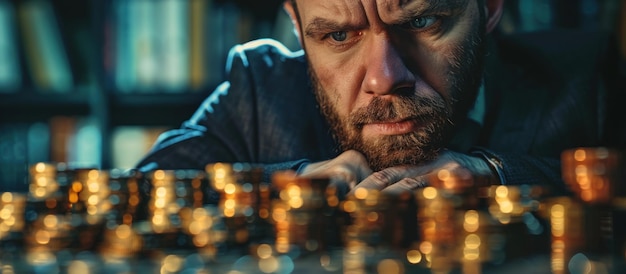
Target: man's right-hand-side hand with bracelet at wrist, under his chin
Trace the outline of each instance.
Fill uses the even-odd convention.
[[[352,188],[351,192],[368,188],[399,194],[429,185],[437,178],[437,173],[444,169],[452,177],[469,179],[475,184],[489,184],[497,180],[482,158],[444,150],[435,160],[424,165],[396,166],[375,172]]]

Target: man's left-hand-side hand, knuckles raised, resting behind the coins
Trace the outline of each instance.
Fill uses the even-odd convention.
[[[334,159],[307,165],[300,176],[330,178],[333,185],[345,185],[352,189],[371,174],[365,156],[356,150],[348,150]]]

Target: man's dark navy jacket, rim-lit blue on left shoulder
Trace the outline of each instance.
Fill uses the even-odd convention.
[[[607,107],[614,105],[609,90],[615,86],[605,76],[617,72],[607,41],[580,32],[491,39],[484,125],[460,125],[450,148],[480,152],[507,184],[562,187],[563,150],[624,143],[623,123],[614,119],[624,112]],[[191,119],[160,136],[139,170],[248,162],[264,164],[267,179],[339,154],[302,51],[272,40],[239,45],[230,52],[227,75]]]

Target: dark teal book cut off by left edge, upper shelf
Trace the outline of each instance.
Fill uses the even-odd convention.
[[[0,93],[17,92],[22,75],[17,44],[15,8],[0,0]]]

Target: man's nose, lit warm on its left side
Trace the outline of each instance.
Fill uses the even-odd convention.
[[[386,95],[412,88],[415,76],[392,41],[378,36],[370,42],[364,56],[366,73],[362,90],[372,95]]]

